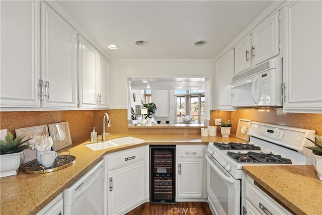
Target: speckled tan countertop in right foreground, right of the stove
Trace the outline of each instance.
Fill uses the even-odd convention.
[[[243,166],[243,171],[295,214],[322,214],[322,181],[312,165]]]

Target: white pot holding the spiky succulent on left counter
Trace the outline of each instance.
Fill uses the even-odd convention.
[[[0,178],[17,175],[22,161],[22,153],[12,153],[0,156]]]

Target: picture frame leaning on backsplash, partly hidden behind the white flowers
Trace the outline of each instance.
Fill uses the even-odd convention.
[[[25,128],[17,128],[16,130],[16,136],[20,136],[22,134],[26,134],[26,136],[23,138],[23,140],[28,139],[34,135],[47,135],[49,136],[48,133],[48,126],[47,125],[38,125],[38,126],[32,126],[32,127],[25,127]],[[24,145],[29,144],[29,142],[25,142]],[[29,161],[35,160],[36,159],[36,149],[26,149],[24,150],[23,153],[23,163],[27,163]]]

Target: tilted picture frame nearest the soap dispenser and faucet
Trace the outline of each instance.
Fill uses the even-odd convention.
[[[61,150],[71,145],[71,136],[68,122],[58,122],[48,125],[49,134],[54,142],[53,151]]]

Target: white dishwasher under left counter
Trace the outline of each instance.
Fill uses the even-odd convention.
[[[106,214],[105,161],[102,159],[64,190],[64,214]]]

